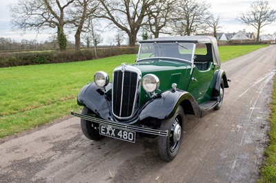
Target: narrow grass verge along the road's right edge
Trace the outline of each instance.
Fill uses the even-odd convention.
[[[266,162],[261,169],[259,182],[276,182],[276,77],[274,79],[272,100],[270,103],[270,144],[265,151]]]

